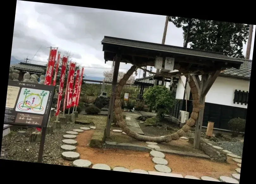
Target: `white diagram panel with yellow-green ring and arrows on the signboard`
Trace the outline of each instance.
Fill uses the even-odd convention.
[[[35,114],[44,114],[47,106],[49,91],[22,88],[16,111]]]

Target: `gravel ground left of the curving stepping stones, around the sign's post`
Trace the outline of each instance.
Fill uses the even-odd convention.
[[[55,118],[56,119],[56,118]],[[54,121],[54,119],[51,121]],[[62,136],[66,134],[66,131],[72,131],[73,129],[80,128],[83,125],[78,125],[74,123],[61,125],[61,129],[54,129],[53,134],[47,134],[45,139],[44,154],[43,154],[43,163],[49,164],[64,164],[64,160],[61,158],[61,153],[63,152],[60,149]],[[1,147],[1,159],[9,160],[18,160],[26,162],[37,162],[38,152],[40,143],[30,143],[28,141],[29,135],[35,131],[34,128],[28,128],[25,136],[18,136],[18,129],[12,131],[11,134],[5,136],[2,139]]]

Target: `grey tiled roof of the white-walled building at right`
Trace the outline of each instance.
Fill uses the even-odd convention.
[[[241,60],[243,64],[241,64],[240,69],[228,68],[226,70],[221,71],[220,75],[229,75],[240,78],[251,78],[251,70],[252,70],[252,60]]]

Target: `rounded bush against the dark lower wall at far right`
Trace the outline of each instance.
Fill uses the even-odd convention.
[[[240,132],[245,131],[245,123],[246,120],[239,117],[228,121],[228,127],[230,128],[233,137],[237,137]]]

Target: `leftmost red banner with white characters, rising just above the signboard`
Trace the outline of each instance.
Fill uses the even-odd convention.
[[[46,75],[45,75],[45,82],[44,82],[45,85],[52,84],[53,69],[54,69],[56,54],[57,54],[57,49],[52,49],[50,51],[50,58],[48,61]]]

